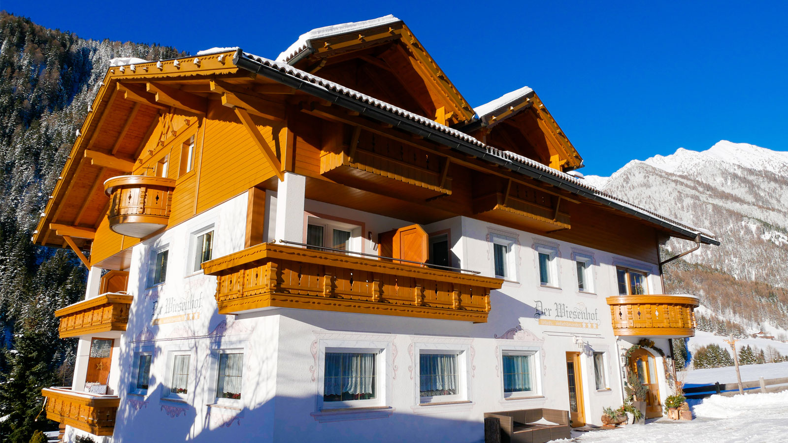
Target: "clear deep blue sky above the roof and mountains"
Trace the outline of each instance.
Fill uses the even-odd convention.
[[[311,28],[400,17],[473,106],[533,87],[585,159],[719,140],[788,150],[785,2],[46,2],[0,8],[83,38],[273,58]],[[162,7],[163,6],[163,7]],[[160,12],[159,12],[160,11]]]

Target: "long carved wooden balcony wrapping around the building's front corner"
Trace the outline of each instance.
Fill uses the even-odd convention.
[[[426,266],[259,244],[203,263],[220,314],[293,307],[486,322],[502,280]]]

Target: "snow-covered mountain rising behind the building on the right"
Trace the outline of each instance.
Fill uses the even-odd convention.
[[[722,140],[706,151],[679,148],[675,154],[633,160],[611,177],[585,176],[585,181],[711,231],[722,245],[685,256],[697,266],[693,272],[705,276],[684,279],[682,285],[695,281],[685,289],[700,292],[717,315],[750,329],[767,323],[788,329],[788,152]],[[671,240],[666,248],[672,255],[691,245]],[[701,280],[723,281],[723,274],[741,284],[730,293],[708,293],[711,283]],[[716,291],[726,291],[720,287],[725,288],[716,285]],[[756,303],[742,307],[748,301]]]

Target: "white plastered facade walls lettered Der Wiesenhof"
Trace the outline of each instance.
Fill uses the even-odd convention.
[[[303,177],[290,173],[280,192],[287,195],[266,195],[269,240],[303,242],[309,221],[322,219],[358,226],[351,249],[375,253],[370,239],[412,224],[304,200]],[[133,247],[128,293],[134,301],[126,332],[114,336],[109,382],[121,404],[114,437],[95,440],[483,441],[485,412],[569,408],[567,352],[582,352],[585,420],[600,424],[602,408],[623,402],[622,352],[629,346],[614,336],[605,302],[618,294],[616,266],[645,272],[646,293],[664,292],[656,265],[455,217],[424,226],[448,236],[452,266],[493,276],[493,245],[505,249],[507,281],[492,291],[486,323],[288,308],[218,315],[216,278],[193,271],[196,239],[213,230],[213,259],[242,250],[246,212],[244,193]],[[156,255],[165,250],[165,281],[152,285]],[[549,257],[548,285],[541,284],[540,252]],[[577,260],[587,266],[585,291],[578,289]],[[91,270],[91,279],[100,271]],[[98,286],[88,288],[87,297],[98,295]],[[90,340],[80,337],[75,390],[83,389]],[[656,345],[669,352],[667,340]],[[374,400],[348,408],[324,402],[326,353],[337,349],[377,352]],[[240,399],[217,398],[222,352],[243,353]],[[420,395],[419,356],[430,352],[456,355],[459,385],[448,401]],[[531,356],[527,393],[504,395],[502,356],[510,352]],[[595,352],[603,353],[600,389]],[[136,388],[140,355],[151,355],[147,390]],[[183,375],[173,374],[175,359],[182,355],[189,356],[186,392],[173,393],[180,383],[173,377]],[[656,361],[664,398],[670,386],[663,359]],[[69,426],[66,437],[78,433]]]

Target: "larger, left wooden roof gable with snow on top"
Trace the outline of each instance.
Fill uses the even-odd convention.
[[[401,20],[305,36],[305,46],[288,60],[298,69],[444,125],[474,117],[463,95]]]

